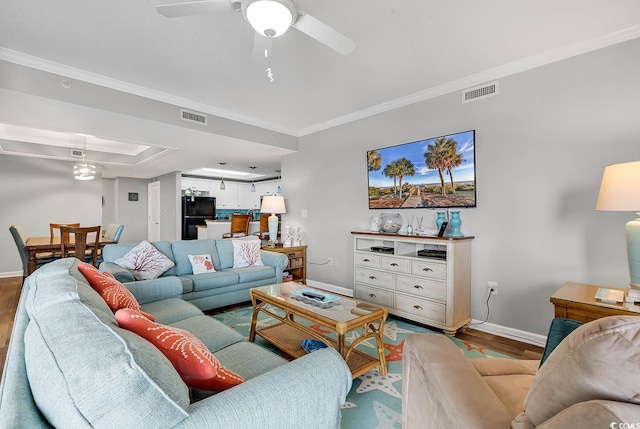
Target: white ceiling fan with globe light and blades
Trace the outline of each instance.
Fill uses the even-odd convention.
[[[350,54],[356,43],[313,16],[296,9],[292,0],[203,0],[156,6],[168,18],[229,11],[242,16],[256,32],[269,39],[290,27],[341,53]]]

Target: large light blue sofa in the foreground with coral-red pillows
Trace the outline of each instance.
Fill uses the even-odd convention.
[[[0,427],[339,427],[351,373],[337,351],[287,362],[180,299],[177,278],[136,282],[144,311],[190,331],[246,379],[216,394],[190,390],[151,343],[118,326],[77,264],[61,259],[25,281],[0,385]]]

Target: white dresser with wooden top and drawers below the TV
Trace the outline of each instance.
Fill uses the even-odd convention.
[[[447,335],[471,321],[471,241],[353,232],[354,297]],[[387,252],[374,248],[386,248]],[[429,256],[421,256],[431,251]],[[420,254],[418,253],[420,252]]]

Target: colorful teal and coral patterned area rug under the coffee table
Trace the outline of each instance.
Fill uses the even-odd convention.
[[[249,337],[251,307],[219,313],[213,315],[213,317],[236,329],[245,337]],[[276,322],[276,320],[263,313],[258,317],[259,327],[268,326]],[[309,326],[312,329],[319,329],[317,325],[314,327],[311,323],[309,323]],[[391,429],[402,427],[402,349],[407,336],[414,332],[442,335],[440,332],[397,320],[391,316],[387,319],[384,326],[387,375],[380,375],[378,370],[372,370],[353,380],[353,386],[347,395],[347,401],[342,406],[342,428]],[[357,335],[358,333],[356,332],[354,338],[357,338]],[[351,338],[351,340],[354,338]],[[457,338],[451,338],[451,340],[469,358],[509,357],[468,341],[462,341]],[[282,355],[275,347],[260,337],[256,338],[256,343]],[[358,350],[372,356],[377,354],[377,347],[373,340],[363,341],[358,346]]]

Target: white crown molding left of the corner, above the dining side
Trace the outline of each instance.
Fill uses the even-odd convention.
[[[144,86],[134,85],[122,80],[113,79],[108,76],[88,72],[86,70],[45,60],[43,58],[34,57],[32,55],[13,51],[11,49],[0,48],[0,60],[5,60],[11,63],[31,67],[33,69],[42,70],[48,73],[54,73],[60,76],[81,80],[116,91],[122,91],[128,94],[148,98],[150,100],[179,106],[185,109],[195,110],[201,113],[206,113],[208,115],[218,116],[220,118],[229,119],[232,121],[241,122],[243,124],[252,125],[255,127],[264,128],[270,131],[297,137],[297,131],[292,128],[287,128],[270,122],[261,121],[256,118],[240,115],[228,110],[218,109],[208,104],[200,103],[182,97],[177,97],[175,95],[157,91],[155,89],[147,88]]]

